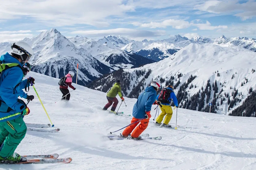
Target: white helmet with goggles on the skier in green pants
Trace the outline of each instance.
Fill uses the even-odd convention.
[[[34,54],[33,49],[26,42],[15,42],[12,44],[11,48],[11,53],[20,56],[22,61],[29,61],[29,58]]]

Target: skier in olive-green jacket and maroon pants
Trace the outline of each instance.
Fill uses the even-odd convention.
[[[103,108],[104,111],[106,111],[114,102],[114,104],[111,108],[111,112],[116,114],[115,110],[116,110],[116,106],[118,104],[118,100],[116,99],[117,94],[123,101],[125,100],[124,97],[122,96],[120,83],[121,83],[120,80],[117,80],[116,83],[111,88],[111,90],[108,92],[108,94],[107,94],[108,103],[104,106],[104,108]]]

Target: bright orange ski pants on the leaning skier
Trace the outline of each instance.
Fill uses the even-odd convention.
[[[140,120],[140,119],[136,119],[136,118],[133,117],[131,119],[131,124],[134,123],[134,122],[137,122],[138,120]],[[123,136],[128,136],[129,134],[131,134],[131,137],[137,138],[148,127],[148,122],[149,122],[149,119],[142,119],[140,122],[137,122],[137,123],[134,123],[133,125],[130,125],[130,126],[125,128],[125,130],[122,132],[122,135]],[[137,126],[139,123],[140,123],[140,125]]]

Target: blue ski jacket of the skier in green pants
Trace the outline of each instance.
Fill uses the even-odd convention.
[[[2,55],[0,61],[2,63],[18,63],[22,67],[22,63],[9,53]],[[0,77],[0,118],[19,113],[26,108],[26,104],[18,99],[20,90],[26,86],[25,82],[21,83],[22,79],[23,71],[17,66],[2,71]],[[3,119],[0,122],[16,119],[19,116],[21,115]]]

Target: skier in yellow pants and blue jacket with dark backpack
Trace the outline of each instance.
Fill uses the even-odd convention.
[[[161,122],[163,121],[163,117],[166,115],[163,121],[163,126],[172,127],[169,125],[169,122],[172,119],[172,107],[170,105],[171,100],[173,100],[174,105],[178,107],[178,101],[176,95],[173,92],[173,86],[168,85],[166,88],[163,88],[161,93],[158,94],[156,100],[160,102],[160,105],[162,105],[162,107],[160,107],[162,113],[157,117],[155,125],[160,126]]]

